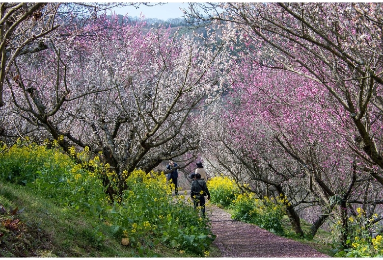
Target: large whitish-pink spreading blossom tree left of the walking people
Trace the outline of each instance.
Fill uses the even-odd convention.
[[[52,136],[65,150],[101,152],[122,191],[135,168],[148,172],[198,147],[192,113],[220,95],[228,55],[214,35],[196,41],[104,18],[82,30],[88,37],[15,63],[13,116],[23,119],[20,129]]]

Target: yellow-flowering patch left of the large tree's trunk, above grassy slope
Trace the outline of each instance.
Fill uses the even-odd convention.
[[[3,181],[26,185],[52,198],[58,205],[100,215],[108,205],[101,180],[94,172],[64,154],[54,143],[53,149],[25,141],[0,154]],[[86,153],[86,149],[85,149]]]

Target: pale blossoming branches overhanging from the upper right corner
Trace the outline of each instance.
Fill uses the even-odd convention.
[[[194,21],[225,22],[224,35],[258,64],[321,84],[323,94],[343,107],[339,120],[352,119],[353,138],[342,141],[365,160],[365,172],[383,184],[381,3],[193,3],[192,7]]]

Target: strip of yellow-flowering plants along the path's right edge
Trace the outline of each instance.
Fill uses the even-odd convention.
[[[218,176],[208,182],[211,201],[227,210],[233,219],[252,223],[274,234],[307,244],[318,252],[333,256],[331,233],[318,230],[315,238],[300,237],[292,230],[285,213],[288,201],[282,196],[256,198],[251,193],[240,193],[238,186],[227,176]],[[310,224],[301,220],[303,231],[308,234]]]

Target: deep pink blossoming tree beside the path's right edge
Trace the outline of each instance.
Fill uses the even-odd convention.
[[[323,96],[320,84],[250,59],[233,71],[233,92],[210,131],[217,134],[206,137],[207,156],[239,184],[251,183],[259,197],[286,196],[297,234],[303,234],[299,214],[313,223],[315,235],[333,210],[347,229],[346,210],[353,212],[353,203],[380,203],[373,193],[363,202],[362,194],[376,183],[345,142],[352,138],[351,118],[343,120],[344,108]]]

